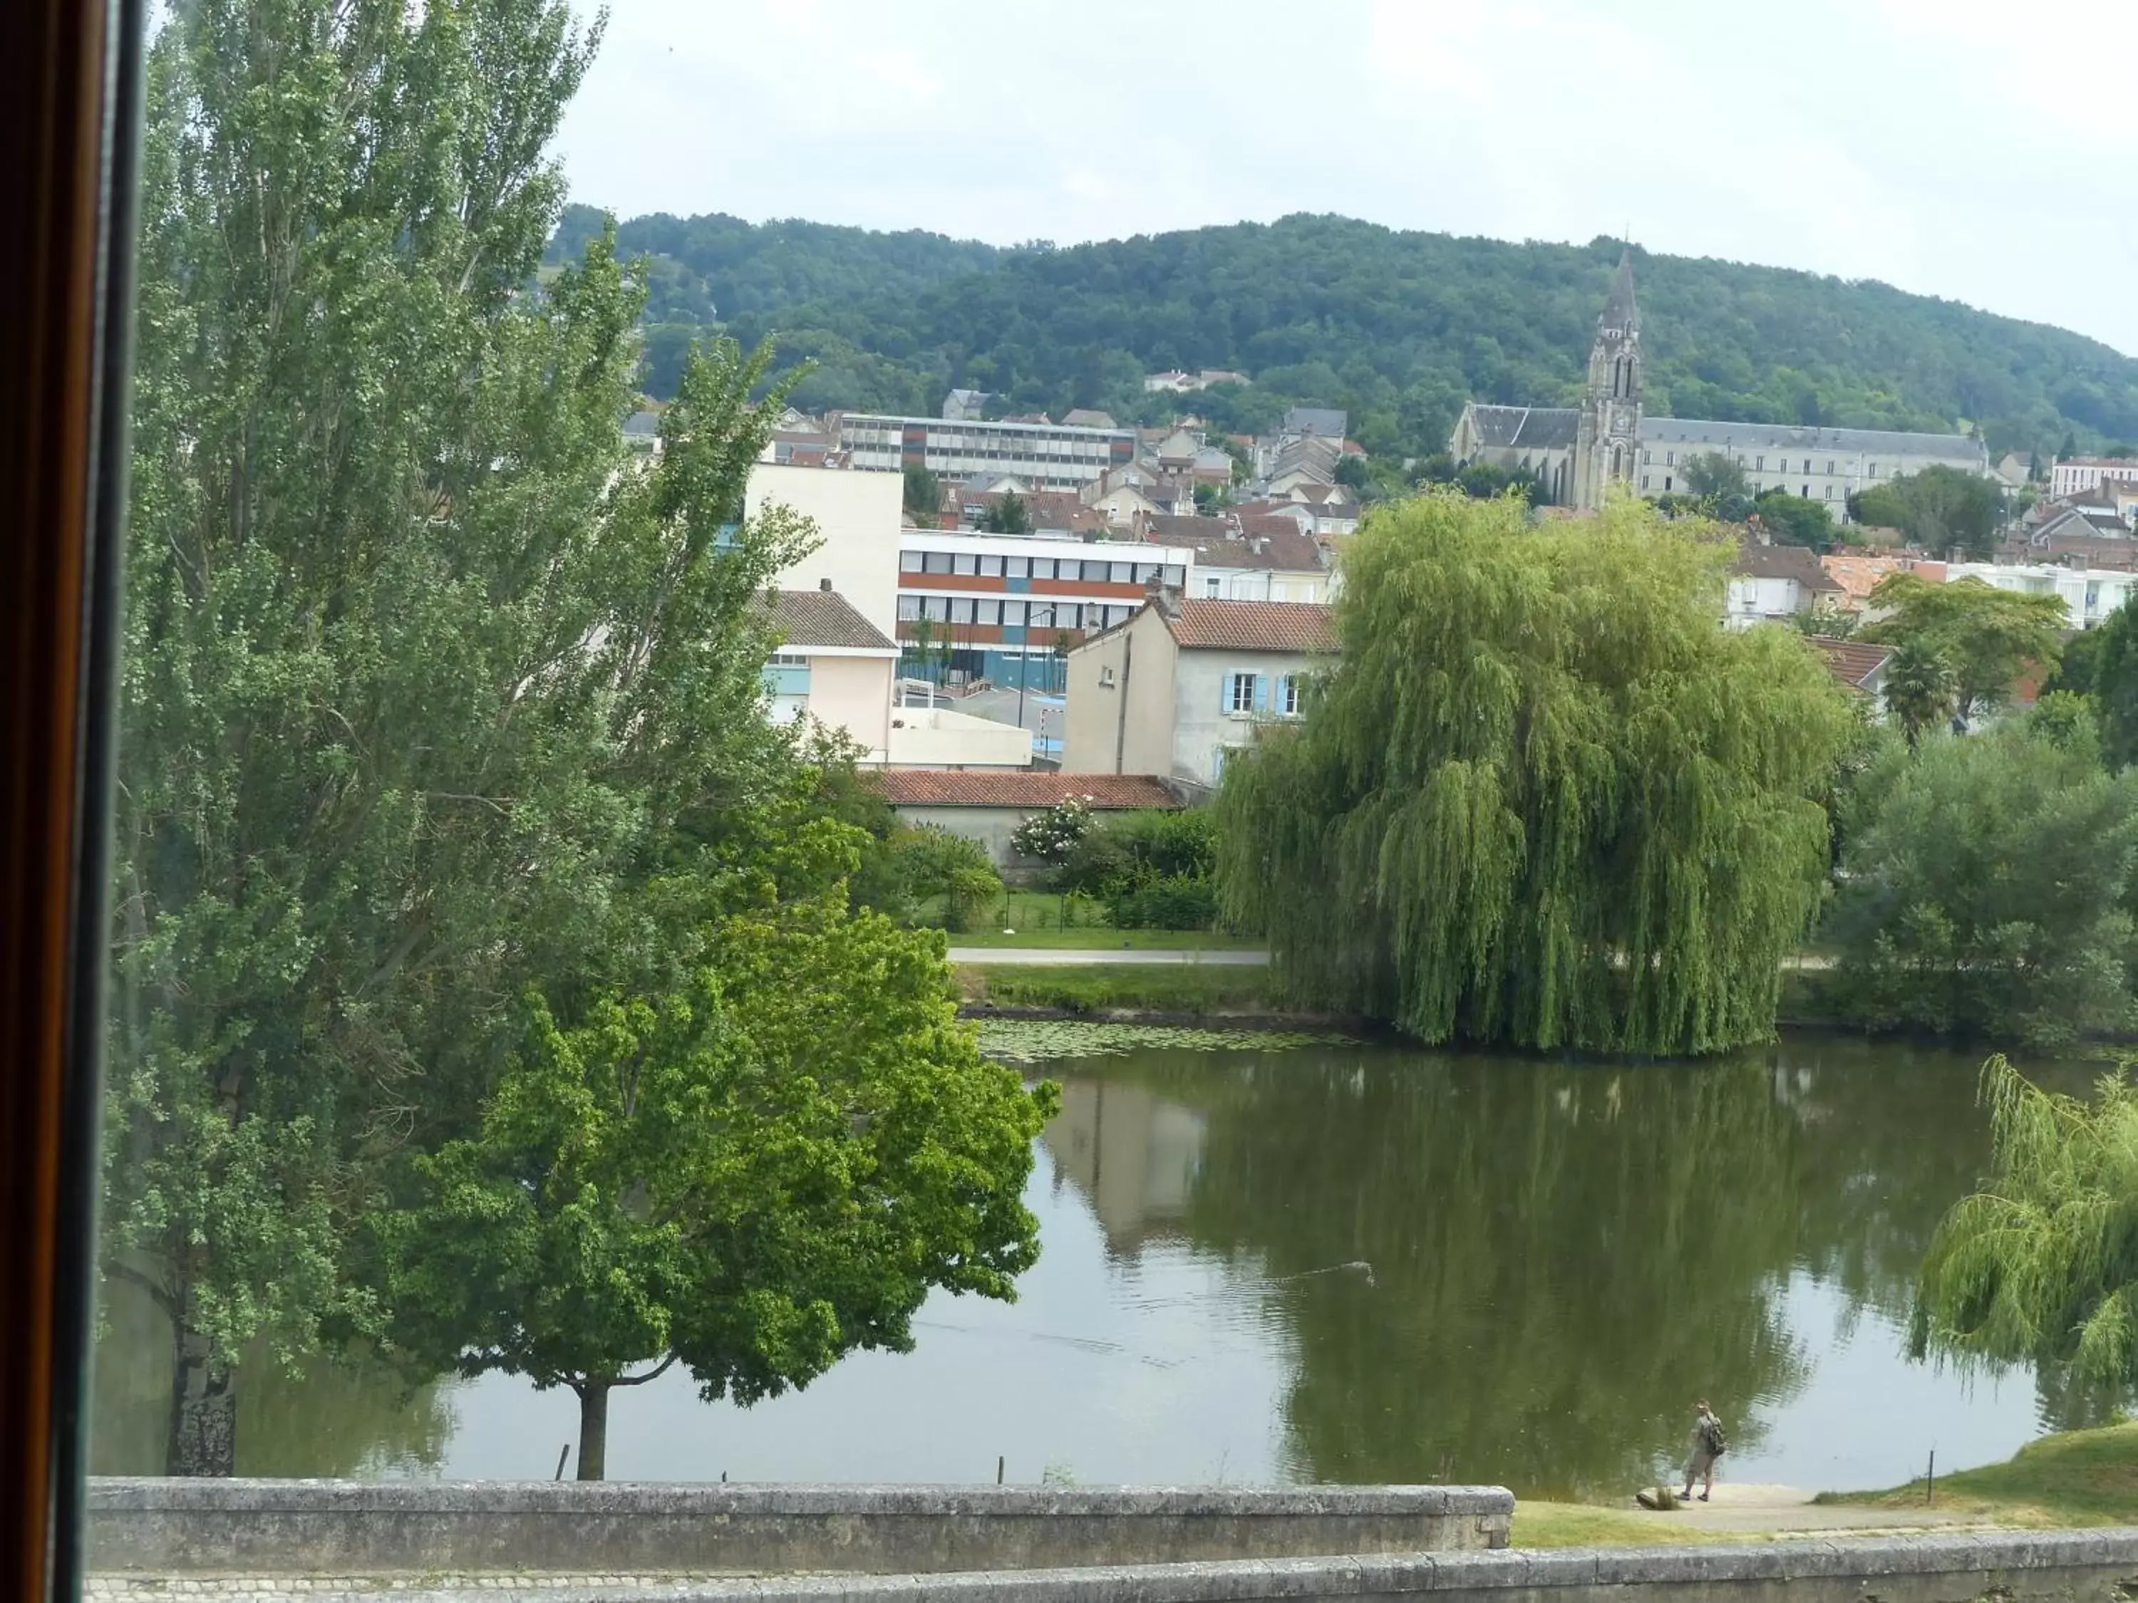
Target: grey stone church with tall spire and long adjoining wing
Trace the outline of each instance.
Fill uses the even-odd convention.
[[[1610,295],[1589,351],[1580,406],[1490,406],[1471,402],[1456,419],[1447,453],[1460,464],[1529,470],[1556,507],[1595,511],[1610,485],[1642,496],[1685,489],[1685,464],[1704,453],[1736,457],[1753,494],[1785,489],[1847,515],[1858,489],[1931,466],[1990,472],[1988,447],[1965,434],[1830,430],[1798,423],[1723,423],[1648,417],[1642,410],[1640,304],[1633,250],[1618,254]]]

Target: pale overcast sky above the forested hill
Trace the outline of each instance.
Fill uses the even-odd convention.
[[[2132,0],[611,0],[562,154],[620,216],[996,244],[1631,231],[2138,355],[2134,64]]]

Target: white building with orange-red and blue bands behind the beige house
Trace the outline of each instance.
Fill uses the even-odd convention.
[[[1187,586],[1193,562],[1189,547],[1142,541],[909,528],[898,541],[907,673],[939,671],[947,648],[964,680],[1058,690],[1067,648],[1127,622],[1155,579]]]

